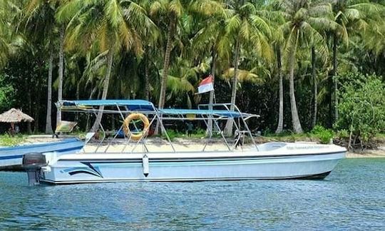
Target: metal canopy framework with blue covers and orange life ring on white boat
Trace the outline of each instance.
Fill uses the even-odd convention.
[[[146,104],[146,108],[129,108],[129,106],[122,105],[121,103],[108,103],[108,105],[104,105],[103,109],[96,108],[102,105],[98,105],[97,103],[91,103],[91,106],[76,106],[76,101],[68,101],[68,102],[74,102],[73,105],[66,107],[63,102],[66,101],[59,101],[56,103],[56,106],[61,107],[62,111],[67,112],[74,112],[74,113],[92,113],[95,117],[97,117],[97,114],[101,111],[104,114],[118,114],[119,117],[124,121],[125,117],[131,113],[143,113],[145,116],[147,116],[150,119],[150,123],[148,125],[148,128],[144,128],[143,135],[138,139],[134,140],[132,138],[132,133],[124,134],[124,144],[123,148],[120,151],[120,153],[134,153],[136,148],[138,148],[138,145],[143,146],[143,152],[148,153],[150,152],[148,149],[147,143],[147,136],[150,128],[154,125],[156,121],[156,127],[155,129],[161,130],[161,133],[165,135],[166,140],[168,141],[168,144],[172,148],[173,152],[176,152],[176,149],[173,145],[172,140],[170,139],[170,136],[168,135],[167,130],[165,129],[165,126],[163,124],[163,120],[191,120],[192,118],[188,118],[189,113],[195,114],[195,117],[193,120],[202,120],[206,127],[207,127],[207,135],[208,138],[205,139],[205,145],[202,148],[202,151],[205,151],[207,148],[207,145],[212,141],[213,132],[212,128],[215,127],[222,139],[224,140],[224,143],[227,147],[228,151],[233,151],[236,148],[236,142],[230,145],[230,143],[227,142],[227,138],[225,137],[225,134],[223,133],[222,129],[220,128],[220,124],[218,123],[220,120],[230,120],[232,125],[235,126],[237,132],[239,134],[248,135],[250,136],[250,139],[252,140],[253,145],[256,149],[258,149],[257,144],[255,143],[255,140],[252,136],[252,133],[250,131],[250,128],[248,127],[246,120],[253,117],[258,117],[257,115],[252,115],[248,113],[242,113],[240,109],[233,103],[212,103],[212,104],[200,104],[197,107],[197,110],[185,110],[185,109],[171,109],[171,108],[165,108],[165,109],[158,109],[155,108],[153,103]],[[108,101],[111,102],[111,101]],[[107,108],[106,108],[107,107]],[[214,108],[221,108],[221,110],[214,109]],[[126,127],[124,127],[126,126]],[[136,125],[135,125],[136,126]],[[103,125],[101,122],[99,122],[99,128],[102,131],[103,137],[98,141],[98,145],[96,145],[96,150],[93,150],[92,153],[100,153],[99,149],[104,146],[103,143],[106,140],[106,130],[103,128]],[[128,125],[125,123],[122,123],[120,125],[120,128],[118,129],[118,132],[116,132],[115,135],[113,135],[113,138],[109,140],[107,143],[107,146],[105,150],[103,150],[102,153],[107,153],[108,149],[113,145],[115,140],[118,137],[118,134],[122,132],[123,128],[128,128]],[[136,128],[136,127],[135,127]],[[136,128],[138,130],[138,128]],[[127,136],[126,136],[127,135]],[[243,137],[242,137],[243,138]],[[236,140],[239,138],[236,138]],[[127,152],[126,149],[128,145],[133,144],[133,148]],[[85,149],[83,149],[83,152],[86,152]]]

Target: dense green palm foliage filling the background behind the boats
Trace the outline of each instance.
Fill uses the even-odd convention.
[[[289,91],[295,96],[302,128],[312,129],[315,106],[317,123],[331,126],[334,116],[329,111],[333,111],[332,99],[337,98],[332,97],[336,90],[329,83],[334,59],[337,73],[359,70],[383,76],[384,81],[384,4],[367,0],[0,0],[0,110],[22,108],[36,118],[32,124],[34,133],[45,128],[48,63],[53,52],[53,86],[61,86],[57,70],[59,31],[65,28],[63,98],[95,99],[107,95],[106,98],[148,98],[156,103],[163,84],[167,86],[165,107],[195,108],[197,103],[208,101],[208,94],[195,92],[200,80],[212,73],[216,102],[232,100],[232,82],[237,82],[233,97],[237,106],[261,116],[260,120],[250,120],[250,128],[274,131],[279,114],[279,73],[287,77],[292,71],[291,84],[287,78],[283,80],[284,130],[293,127]],[[170,22],[175,28],[169,33]],[[169,39],[170,47],[166,49]],[[240,51],[235,61],[237,41]],[[113,58],[109,64],[107,54],[111,49]],[[317,69],[316,81],[309,78],[312,64]],[[106,74],[107,66],[111,67],[111,75]],[[162,76],[165,69],[168,75]],[[167,83],[161,83],[162,77],[167,78]],[[354,83],[358,89],[365,79],[362,74],[338,78],[340,95],[345,93],[345,85]],[[313,91],[315,83],[317,96]],[[57,90],[53,88],[53,101]],[[351,105],[362,108],[356,102]],[[53,108],[53,115],[54,111]],[[347,112],[340,110],[340,116],[349,117],[344,115]],[[104,116],[103,120],[111,129],[108,118]],[[81,129],[86,128],[86,116],[78,117],[78,122]],[[364,128],[369,122],[362,120],[362,128],[354,129],[369,130]],[[349,136],[347,121],[339,121],[336,128],[343,129],[339,135]],[[197,132],[196,137],[204,133]],[[313,133],[286,135],[290,140],[315,138]]]

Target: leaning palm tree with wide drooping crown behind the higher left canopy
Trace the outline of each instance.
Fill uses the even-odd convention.
[[[69,48],[98,49],[105,56],[106,71],[103,79],[101,99],[108,94],[113,56],[120,48],[133,49],[141,53],[141,43],[137,31],[125,12],[129,12],[137,4],[128,1],[103,0],[90,3],[82,0],[70,1],[58,12],[58,21],[71,18],[68,24],[69,35],[66,44]],[[82,41],[82,42],[79,42]],[[78,44],[83,46],[79,47]],[[101,106],[91,130],[97,130],[101,123],[104,106]]]

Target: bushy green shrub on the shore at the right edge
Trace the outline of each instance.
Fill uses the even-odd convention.
[[[385,84],[375,75],[348,73],[342,77],[340,116],[335,128],[349,130],[367,142],[385,130]]]

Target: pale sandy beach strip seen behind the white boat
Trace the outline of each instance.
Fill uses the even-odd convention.
[[[66,138],[66,137],[63,137]],[[51,138],[48,135],[31,135],[26,139],[26,143],[40,143],[40,142],[52,142],[54,140],[58,140],[57,138]],[[92,152],[98,148],[98,141],[93,140],[93,142],[88,143],[85,147],[86,152]],[[232,145],[232,140],[228,140],[229,145]],[[205,139],[199,138],[175,138],[173,140],[173,145],[176,150],[183,151],[197,151],[197,150],[205,150],[214,151],[214,150],[227,150],[225,143],[222,140],[211,140],[210,143],[207,143]],[[206,145],[206,147],[205,147]],[[173,148],[168,144],[167,140],[163,140],[162,138],[148,138],[145,143],[145,147],[150,152],[155,151],[173,151]],[[135,145],[135,143],[130,143],[128,145],[124,144],[123,139],[114,140],[111,145],[108,146],[108,143],[104,142],[101,147],[98,148],[98,151],[104,151],[108,148],[108,150],[113,152],[130,152],[141,151],[144,147],[141,144]],[[252,145],[245,144],[243,149],[252,148]],[[385,158],[385,146],[381,146],[377,149],[373,150],[364,150],[361,152],[351,152],[347,153],[347,158]]]

